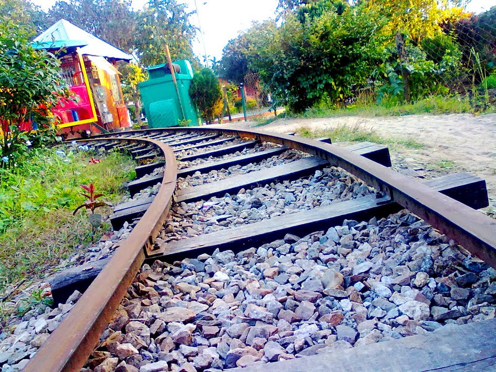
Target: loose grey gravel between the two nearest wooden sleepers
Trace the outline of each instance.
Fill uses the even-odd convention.
[[[215,371],[422,334],[493,318],[495,280],[406,211],[237,254],[156,261],[85,371]]]

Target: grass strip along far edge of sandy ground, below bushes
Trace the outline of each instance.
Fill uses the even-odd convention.
[[[473,113],[474,109],[467,98],[454,96],[432,96],[414,103],[405,104],[398,99],[385,99],[380,104],[360,102],[342,108],[316,107],[308,109],[301,117],[325,118],[337,116],[404,116],[425,114]]]

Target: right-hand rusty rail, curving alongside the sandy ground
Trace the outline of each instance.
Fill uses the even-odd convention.
[[[185,128],[167,128],[175,132]],[[263,130],[242,130],[232,127],[188,127],[189,132],[217,132],[277,143],[308,152],[341,167],[368,185],[388,195],[392,201],[429,222],[443,234],[470,250],[496,268],[496,220],[422,183],[409,179],[389,168],[356,155],[342,147],[300,136],[270,133]],[[144,129],[143,134],[150,132]]]

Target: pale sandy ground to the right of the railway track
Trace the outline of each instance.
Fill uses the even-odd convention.
[[[231,125],[252,127],[256,124],[239,122]],[[456,171],[475,174],[486,180],[490,197],[488,209],[496,209],[496,114],[282,119],[258,129],[287,133],[302,126],[326,129],[342,124],[373,128],[383,137],[415,138],[425,144],[424,148],[399,145],[390,148],[391,160],[396,166],[406,165],[426,177]]]

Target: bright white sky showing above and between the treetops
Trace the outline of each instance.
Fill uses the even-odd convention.
[[[45,10],[56,2],[56,0],[31,1]],[[146,2],[147,0],[132,0],[132,7],[139,9]],[[184,3],[188,5],[189,10],[194,9],[194,0],[184,0]],[[219,60],[227,42],[234,39],[239,31],[247,29],[252,21],[274,18],[278,0],[197,0],[196,3],[207,55],[209,59],[216,57]],[[496,0],[472,0],[467,10],[479,13],[495,5]],[[198,25],[196,15],[191,17],[191,23]],[[193,50],[198,56],[204,55],[199,35],[193,43]],[[200,57],[200,61],[203,61],[203,57]]]

